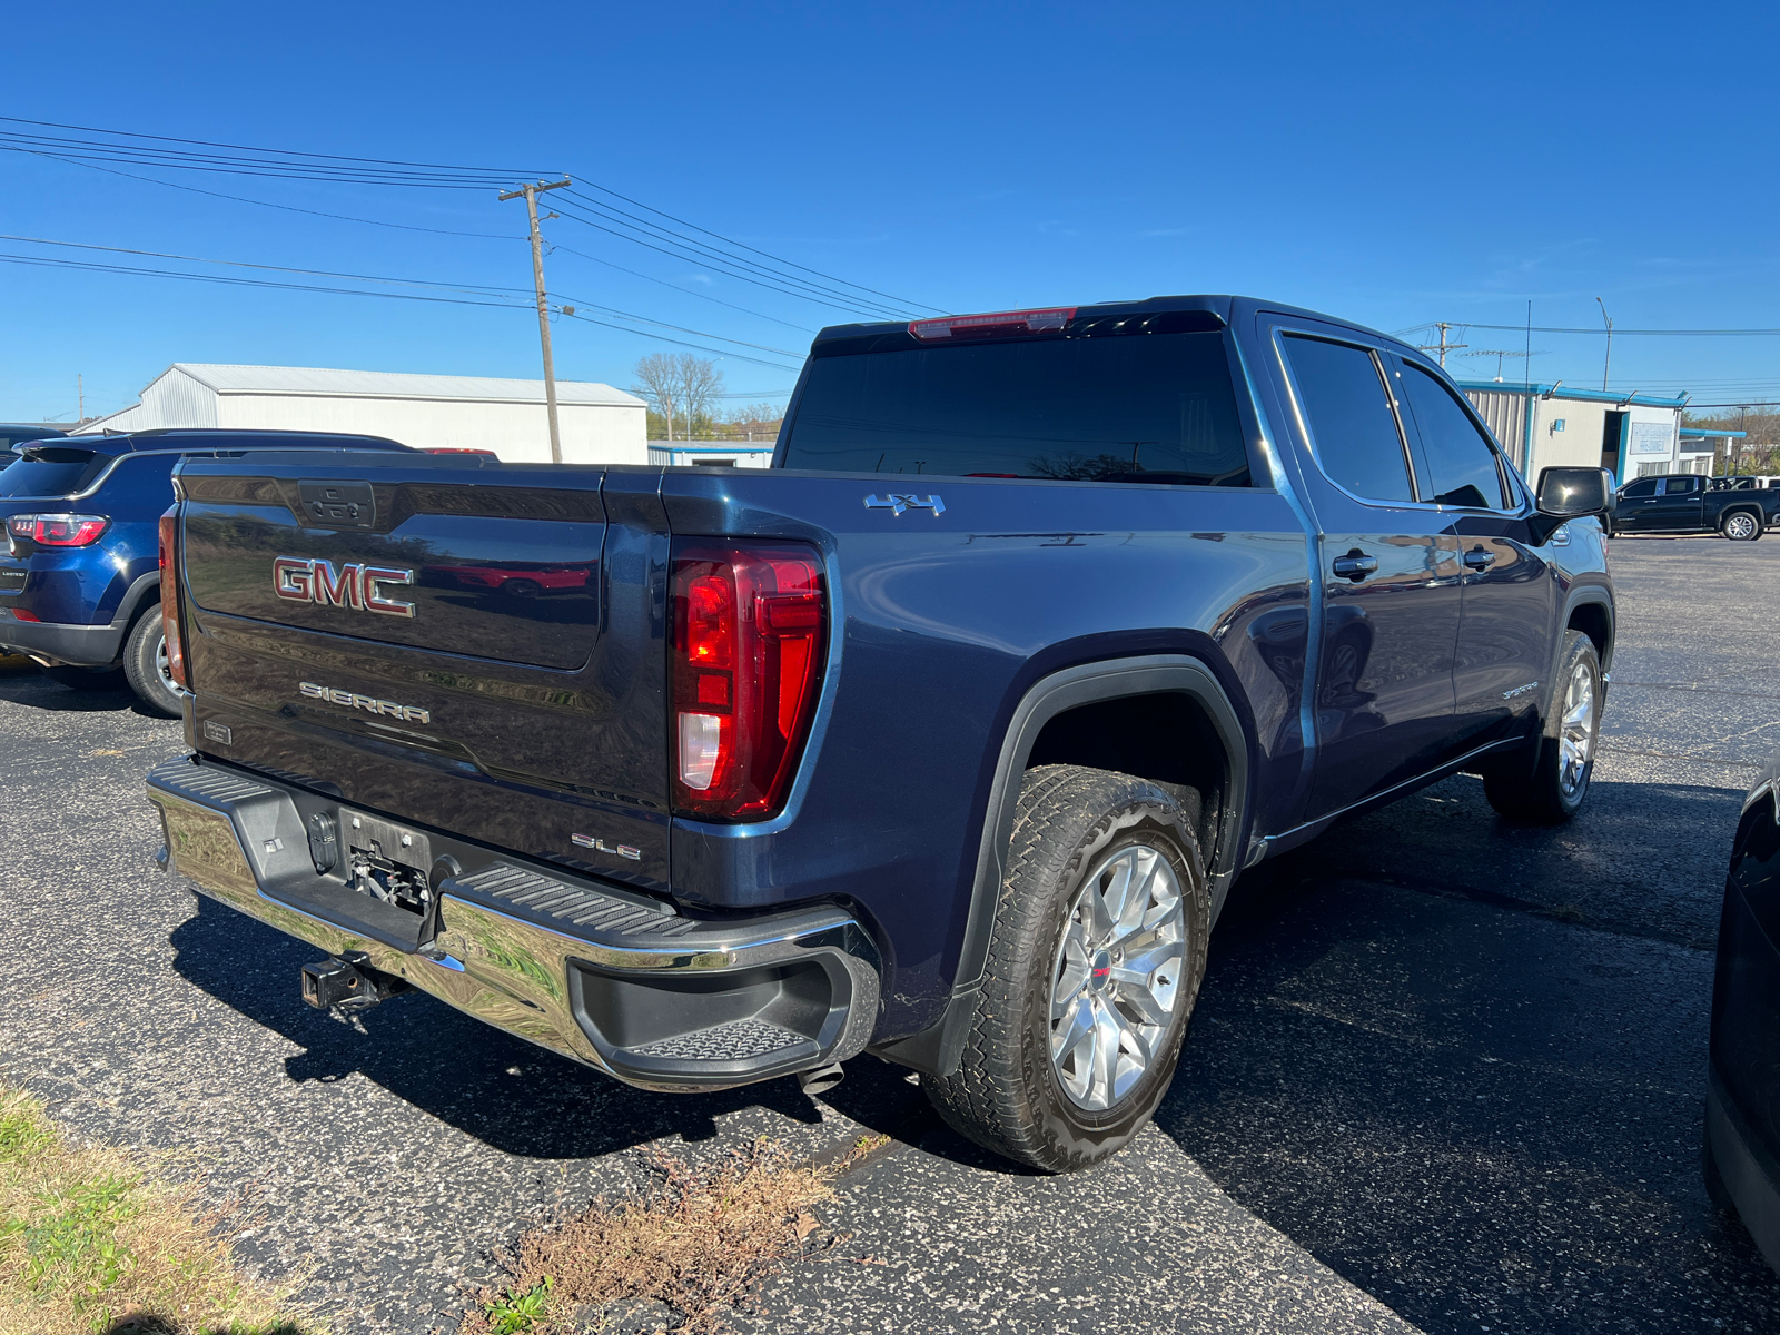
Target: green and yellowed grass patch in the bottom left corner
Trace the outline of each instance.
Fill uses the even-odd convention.
[[[235,1271],[228,1223],[0,1086],[0,1335],[322,1335],[288,1290]]]

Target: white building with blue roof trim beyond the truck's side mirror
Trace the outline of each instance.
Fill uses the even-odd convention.
[[[1540,468],[1572,465],[1611,468],[1625,482],[1648,473],[1711,472],[1695,456],[1682,459],[1680,409],[1687,395],[1570,390],[1559,384],[1460,381],[1477,415],[1520,468],[1538,482]]]

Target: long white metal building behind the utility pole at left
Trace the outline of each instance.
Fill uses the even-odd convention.
[[[562,463],[648,463],[646,413],[641,399],[611,384],[557,381]],[[142,402],[77,434],[153,427],[360,431],[417,449],[550,461],[541,379],[176,361],[142,390]]]

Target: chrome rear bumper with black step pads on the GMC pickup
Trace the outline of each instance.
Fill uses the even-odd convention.
[[[627,1084],[724,1089],[812,1070],[856,1056],[876,1024],[879,956],[835,906],[687,918],[408,826],[441,872],[420,918],[317,874],[308,819],[344,829],[354,810],[331,797],[199,756],[153,769],[148,797],[158,860],[212,899]]]

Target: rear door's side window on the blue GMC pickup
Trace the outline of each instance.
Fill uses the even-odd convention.
[[[1285,354],[1323,472],[1356,497],[1415,500],[1403,434],[1372,354],[1301,335],[1285,336]]]

